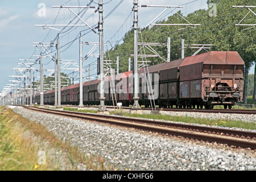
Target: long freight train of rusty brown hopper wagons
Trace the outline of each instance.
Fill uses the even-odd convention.
[[[236,51],[210,51],[138,70],[139,105],[229,109],[242,101],[244,61]],[[105,105],[133,105],[133,72],[104,78]],[[150,83],[150,84],[148,84]],[[83,104],[100,105],[100,80],[82,85]],[[80,84],[61,88],[61,105],[79,105]],[[27,101],[27,100],[26,100]],[[40,104],[40,94],[35,95]],[[55,90],[44,92],[44,104],[55,104]]]

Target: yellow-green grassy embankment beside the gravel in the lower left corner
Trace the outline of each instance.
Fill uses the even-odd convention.
[[[24,137],[25,131],[31,131],[39,144],[31,137]],[[35,138],[35,137],[33,137]],[[77,164],[85,164],[86,169],[106,170],[105,160],[100,156],[85,156],[79,150],[71,147],[68,142],[62,142],[54,134],[46,130],[42,125],[30,122],[27,119],[13,112],[11,109],[0,107],[0,171],[30,171],[30,170],[61,170],[63,162],[61,158],[52,160],[48,150],[56,148],[59,156],[68,159],[68,168],[76,170]],[[46,150],[45,164],[39,159],[42,145],[48,143]],[[42,144],[43,143],[43,144]],[[56,158],[56,157],[55,157]],[[67,162],[67,161],[65,161]],[[112,169],[108,166],[108,169]]]

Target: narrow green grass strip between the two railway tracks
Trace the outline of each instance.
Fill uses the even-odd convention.
[[[74,108],[64,107],[64,110],[72,110],[78,112],[84,112],[84,110],[77,110]],[[86,110],[86,112],[96,113],[96,110]],[[119,113],[119,109],[117,110]],[[110,111],[110,114],[117,113],[115,111]],[[135,117],[135,118],[147,118],[147,119],[163,119],[166,121],[175,121],[175,122],[185,122],[185,123],[198,123],[204,125],[217,125],[217,126],[226,126],[226,127],[238,127],[243,129],[253,129],[256,130],[256,123],[246,123],[242,121],[234,121],[229,119],[209,119],[209,118],[193,118],[187,116],[171,116],[171,115],[161,115],[161,114],[129,114],[121,110],[123,116]]]

